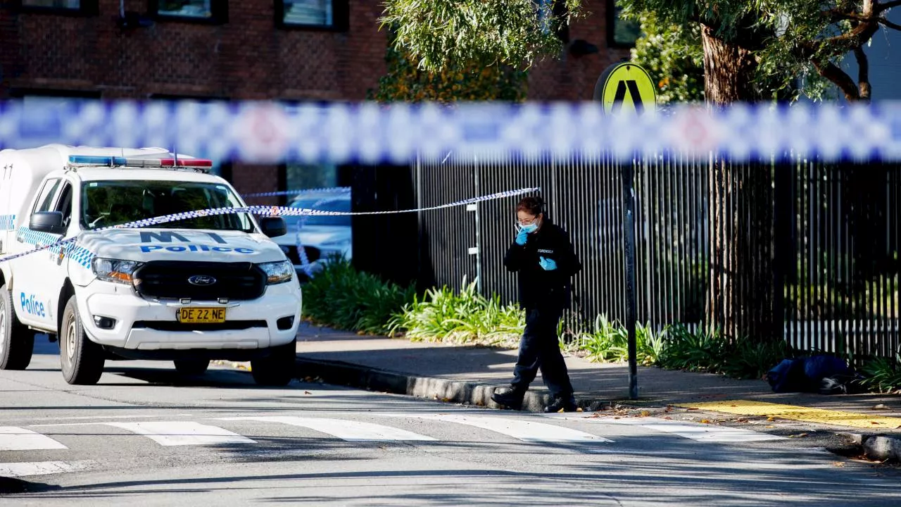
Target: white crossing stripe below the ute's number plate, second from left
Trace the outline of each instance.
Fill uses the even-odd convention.
[[[160,446],[211,446],[218,444],[256,444],[247,437],[241,437],[227,429],[187,422],[166,420],[153,422],[104,422],[106,426],[127,429],[132,433],[150,438]]]

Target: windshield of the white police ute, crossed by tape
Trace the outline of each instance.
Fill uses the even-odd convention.
[[[81,197],[81,226],[93,230],[145,218],[212,207],[240,207],[231,189],[186,181],[89,181]],[[177,220],[154,227],[253,232],[247,214]]]

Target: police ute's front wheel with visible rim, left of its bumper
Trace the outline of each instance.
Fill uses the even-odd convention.
[[[71,384],[95,384],[104,373],[105,361],[103,347],[87,337],[75,296],[72,296],[62,312],[62,325],[59,328],[59,364],[62,366],[63,378]]]

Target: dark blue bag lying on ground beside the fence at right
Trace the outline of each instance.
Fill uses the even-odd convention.
[[[834,355],[813,355],[783,359],[767,372],[766,378],[773,392],[822,392],[824,379],[854,378],[854,372]]]

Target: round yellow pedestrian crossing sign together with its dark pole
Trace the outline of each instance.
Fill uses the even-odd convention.
[[[628,98],[628,100],[627,100]],[[601,103],[605,115],[642,115],[655,111],[657,94],[647,71],[622,61],[601,74],[595,85],[594,99]],[[628,106],[632,107],[628,107]],[[629,335],[629,399],[638,400],[638,336],[636,336],[637,289],[635,286],[635,165],[641,155],[635,153],[632,163],[621,165],[623,178],[623,249],[625,253],[625,328]]]

